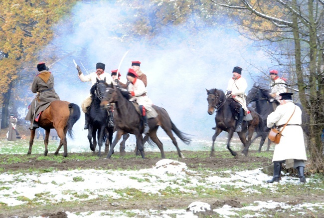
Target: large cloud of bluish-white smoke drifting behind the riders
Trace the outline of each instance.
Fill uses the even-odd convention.
[[[80,106],[91,88],[90,82],[79,80],[73,59],[85,75],[86,70],[95,71],[97,62],[105,63],[105,71],[110,73],[118,68],[123,55],[129,51],[121,64],[121,81],[126,82],[131,61],[141,61],[141,70],[148,77],[148,96],[153,103],[168,112],[180,131],[192,138],[211,139],[215,114],[207,114],[206,89],[225,91],[234,66],[240,66],[242,76],[248,81],[248,92],[254,83],[250,73],[259,74],[252,65],[271,66],[266,55],[234,28],[206,27],[193,35],[183,26],[166,26],[151,39],[158,43],[156,46],[148,39],[138,38],[132,43],[120,40],[116,29],[125,10],[111,1],[78,2],[69,18],[71,22],[63,20],[54,27],[56,36],[44,51],[48,55],[48,50],[56,45],[65,50],[64,53],[54,49],[52,55],[61,59],[48,63],[61,100]],[[82,113],[73,128],[80,141],[87,140],[83,125]],[[158,136],[163,134],[162,130],[158,131]]]

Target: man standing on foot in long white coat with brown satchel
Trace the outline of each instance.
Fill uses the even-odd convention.
[[[294,104],[293,93],[280,93],[280,105],[267,118],[269,128],[276,124],[282,131],[283,126],[288,122],[283,130],[279,144],[276,145],[272,162],[274,163],[273,178],[267,183],[279,182],[281,175],[281,163],[286,162],[286,168],[297,169],[301,183],[306,183],[304,168],[307,161],[304,143],[304,134],[301,127],[302,110]]]

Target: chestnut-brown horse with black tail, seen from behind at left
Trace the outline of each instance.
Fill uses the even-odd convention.
[[[80,108],[78,105],[67,102],[67,101],[53,101],[48,108],[41,112],[38,119],[38,124],[40,127],[45,129],[45,153],[47,156],[48,150],[48,137],[51,129],[55,129],[58,137],[60,137],[60,144],[55,152],[58,154],[60,148],[63,145],[64,153],[63,157],[67,157],[67,143],[66,143],[66,133],[73,138],[72,127],[76,121],[80,119]],[[30,140],[29,140],[29,150],[28,155],[31,154],[31,147],[34,143],[35,130],[30,130]]]

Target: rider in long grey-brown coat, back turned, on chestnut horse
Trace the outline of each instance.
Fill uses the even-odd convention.
[[[52,101],[60,100],[54,89],[54,76],[46,70],[44,62],[37,64],[38,74],[34,77],[31,85],[32,93],[36,93],[36,99],[28,106],[28,113],[25,120],[30,121],[29,129],[39,127],[37,121],[40,113],[45,110]],[[36,102],[37,100],[37,102]]]

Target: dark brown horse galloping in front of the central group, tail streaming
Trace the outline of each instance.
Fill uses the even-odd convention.
[[[101,100],[101,106],[106,107],[108,104],[113,102],[116,104],[114,110],[114,120],[117,126],[117,134],[113,144],[111,145],[111,149],[107,154],[107,159],[109,159],[113,154],[113,149],[116,146],[119,139],[121,138],[121,136],[126,133],[134,134],[136,136],[137,148],[142,158],[145,158],[142,136],[142,133],[144,131],[144,124],[142,122],[140,113],[136,110],[134,104],[131,101],[129,101],[129,98],[129,92],[123,91],[119,87],[114,86],[112,84],[106,85],[106,92],[104,93],[103,98]],[[157,144],[161,152],[161,157],[165,158],[163,144],[157,136],[158,128],[159,126],[161,126],[165,133],[172,140],[172,143],[178,152],[178,156],[180,158],[184,158],[172,134],[172,131],[185,144],[189,144],[191,140],[185,136],[185,133],[182,133],[176,128],[165,109],[155,105],[153,106],[153,108],[157,111],[158,116],[156,118],[148,119],[150,132],[147,134],[147,138],[149,142],[150,140],[152,140],[155,144]]]

